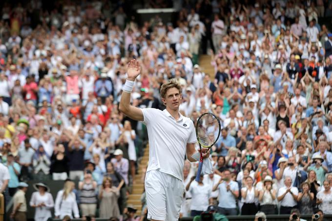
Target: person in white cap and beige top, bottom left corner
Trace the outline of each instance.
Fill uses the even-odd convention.
[[[25,193],[28,190],[28,184],[25,182],[19,183],[19,190],[15,193],[13,197],[14,207],[13,212],[10,217],[14,219],[14,221],[26,221],[26,198]]]

